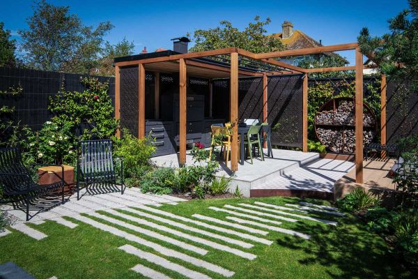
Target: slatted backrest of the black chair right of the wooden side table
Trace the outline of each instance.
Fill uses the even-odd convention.
[[[87,182],[114,181],[111,140],[82,140],[79,167]]]

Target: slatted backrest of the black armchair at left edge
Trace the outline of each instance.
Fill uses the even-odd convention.
[[[20,150],[15,147],[0,149],[0,187],[7,195],[15,194],[20,189],[33,184],[29,169],[24,166],[20,154]],[[19,174],[28,174],[29,176]]]

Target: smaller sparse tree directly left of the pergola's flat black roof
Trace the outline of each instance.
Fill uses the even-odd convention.
[[[114,75],[115,69],[112,66],[115,57],[128,56],[134,54],[134,43],[123,38],[116,45],[109,42],[104,44],[101,51],[102,58],[98,61],[98,68],[91,71],[92,75]]]

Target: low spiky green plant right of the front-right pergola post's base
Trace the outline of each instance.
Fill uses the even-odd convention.
[[[365,211],[377,203],[378,199],[373,197],[373,194],[366,192],[366,190],[361,187],[355,188],[353,192],[336,202],[339,208],[345,211],[353,212]]]

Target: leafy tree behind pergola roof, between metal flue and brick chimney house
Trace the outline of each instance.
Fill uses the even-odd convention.
[[[231,22],[226,20],[220,22],[221,27],[208,30],[197,29],[194,31],[195,45],[190,48],[190,51],[200,52],[225,47],[239,47],[254,53],[284,50],[285,47],[280,39],[266,35],[265,26],[270,22],[270,18],[261,21],[260,17],[256,16],[254,22],[249,22],[243,31],[233,27]]]

